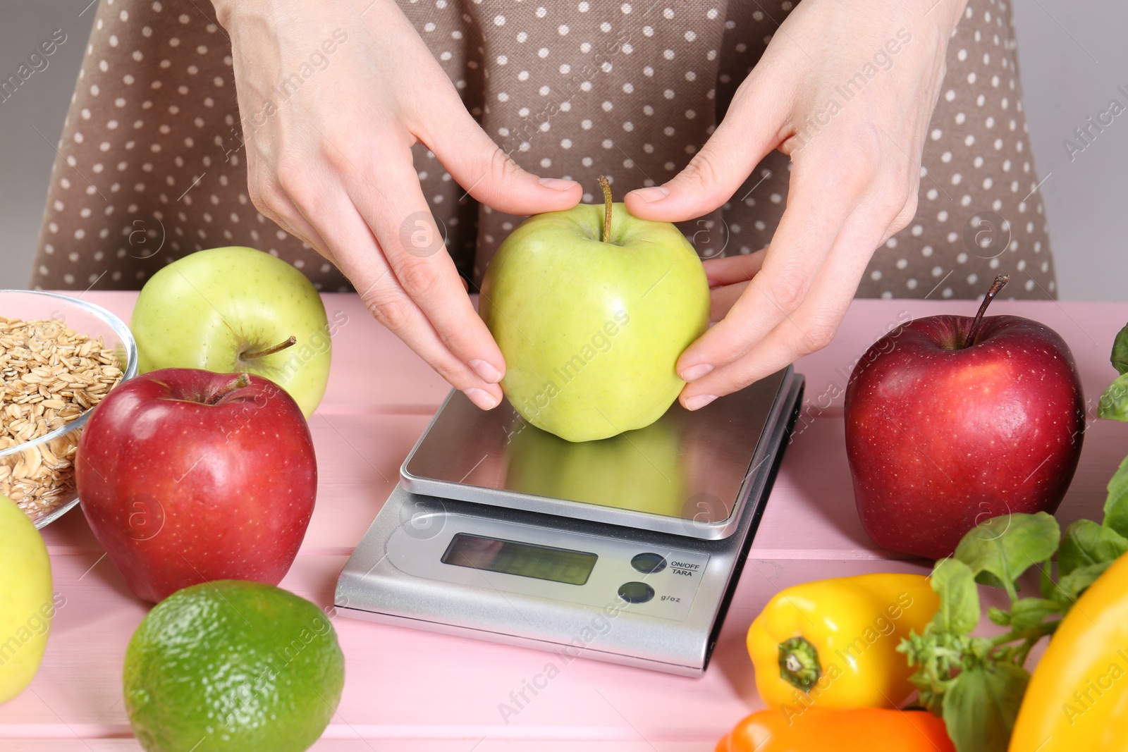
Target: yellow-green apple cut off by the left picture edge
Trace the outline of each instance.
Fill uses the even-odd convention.
[[[0,495],[0,702],[32,683],[54,613],[47,547],[23,510]]]

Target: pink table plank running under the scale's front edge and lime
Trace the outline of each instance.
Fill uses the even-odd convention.
[[[905,561],[754,560],[741,580],[714,662],[702,679],[659,674],[529,648],[376,625],[336,616],[332,593],[344,556],[301,556],[282,585],[326,608],[346,656],[346,682],[328,738],[425,734],[462,738],[559,737],[715,742],[759,706],[743,636],[777,591],[832,570],[925,572]],[[108,561],[54,556],[65,599],[43,666],[28,691],[0,706],[0,738],[86,738],[127,734],[121,666],[147,611]],[[548,663],[558,675],[536,696],[520,692]],[[538,683],[544,683],[538,681]],[[515,713],[503,713],[508,706]],[[582,725],[574,725],[582,720]],[[508,723],[506,723],[508,722]],[[687,735],[690,738],[687,738]],[[0,746],[3,746],[0,743]]]

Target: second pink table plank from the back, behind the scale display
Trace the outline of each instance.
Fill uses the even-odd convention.
[[[399,465],[428,416],[315,415],[318,501],[302,554],[345,554],[360,541],[398,478]],[[332,424],[332,425],[331,425]],[[769,559],[900,558],[876,548],[858,520],[843,448],[840,410],[812,421],[787,448],[754,542]],[[1074,483],[1061,503],[1063,525],[1101,519],[1105,485],[1128,454],[1128,431],[1094,421],[1087,430]],[[817,469],[817,471],[812,471]],[[43,531],[53,555],[99,554],[81,511]]]

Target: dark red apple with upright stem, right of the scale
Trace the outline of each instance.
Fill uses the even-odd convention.
[[[846,387],[846,454],[866,533],[938,559],[979,522],[1054,513],[1077,468],[1084,399],[1073,354],[1019,316],[929,316],[885,335]]]

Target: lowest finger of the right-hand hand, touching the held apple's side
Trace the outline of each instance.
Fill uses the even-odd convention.
[[[743,389],[829,344],[885,224],[872,211],[855,212],[835,240],[803,306],[742,357],[687,384],[679,397],[681,404],[688,409],[704,407],[717,396]]]

